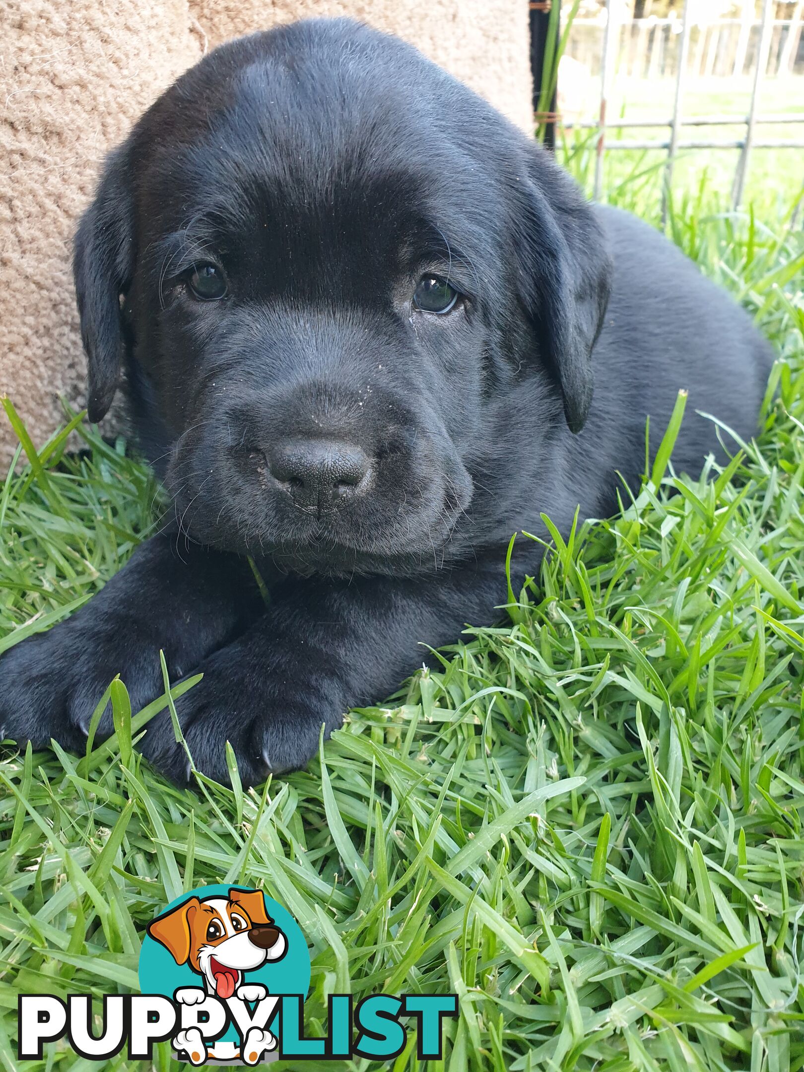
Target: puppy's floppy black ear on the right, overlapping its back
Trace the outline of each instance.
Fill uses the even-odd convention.
[[[515,224],[520,296],[561,385],[567,425],[580,432],[592,404],[592,347],[609,300],[611,260],[595,210],[548,153],[533,145],[524,170],[517,183],[524,210]]]

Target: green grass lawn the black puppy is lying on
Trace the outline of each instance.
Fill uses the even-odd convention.
[[[612,191],[653,215],[649,195]],[[119,733],[89,755],[5,749],[0,1064],[19,1063],[19,993],[136,991],[145,924],[234,881],[307,934],[311,1032],[330,993],[453,992],[455,1072],[804,1068],[804,239],[712,204],[678,197],[673,237],[780,355],[763,434],[726,472],[659,460],[498,628],[257,791],[166,784],[119,687]],[[81,435],[83,457],[29,447],[0,494],[0,652],[151,523],[148,474]],[[48,1045],[25,1067],[94,1066]],[[413,1037],[392,1068],[419,1068]]]

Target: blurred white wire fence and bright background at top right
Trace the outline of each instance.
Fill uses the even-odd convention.
[[[732,207],[802,191],[804,0],[556,3],[530,3],[536,120],[594,195],[642,170],[666,215],[676,168]]]

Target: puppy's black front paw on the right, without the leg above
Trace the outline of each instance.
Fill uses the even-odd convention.
[[[294,681],[266,667],[269,651],[254,652],[237,642],[215,652],[197,671],[203,681],[177,702],[184,741],[198,771],[228,784],[226,742],[232,745],[245,786],[269,774],[304,766],[325,735],[342,720],[339,698],[324,686]],[[331,682],[327,681],[331,686]],[[167,717],[154,719],[143,754],[176,781],[188,778],[187,754],[176,744]]]

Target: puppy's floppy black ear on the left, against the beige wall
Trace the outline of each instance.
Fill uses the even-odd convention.
[[[88,360],[89,419],[111,405],[122,359],[120,295],[134,270],[134,207],[126,147],[111,152],[75,236],[73,276]]]

